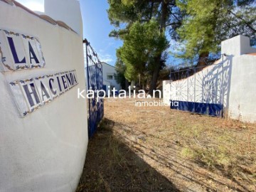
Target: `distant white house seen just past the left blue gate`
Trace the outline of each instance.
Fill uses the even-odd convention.
[[[103,88],[108,91],[115,88],[115,90],[120,90],[120,85],[115,78],[117,73],[114,66],[102,62],[102,71],[103,71]]]

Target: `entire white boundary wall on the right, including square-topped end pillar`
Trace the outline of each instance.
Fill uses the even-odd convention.
[[[225,115],[256,122],[256,49],[250,39],[235,36],[221,43],[222,65],[211,65],[183,80],[163,81],[164,102],[179,100],[223,104]]]

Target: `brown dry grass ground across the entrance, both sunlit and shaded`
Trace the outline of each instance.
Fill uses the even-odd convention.
[[[105,100],[77,192],[256,191],[256,124]]]

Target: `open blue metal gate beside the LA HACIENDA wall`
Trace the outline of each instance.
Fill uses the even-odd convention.
[[[88,134],[89,137],[92,137],[104,115],[103,99],[97,99],[97,90],[102,90],[103,88],[102,64],[87,39],[85,39],[83,43],[85,44],[86,55],[87,90],[93,90],[94,92],[93,98],[87,98]]]

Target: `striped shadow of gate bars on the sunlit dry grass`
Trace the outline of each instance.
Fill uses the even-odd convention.
[[[171,181],[174,180],[179,191],[250,191],[245,183],[236,181],[220,166],[213,170],[200,159],[183,159],[182,145],[177,141],[161,139],[155,134],[139,131],[121,122],[115,122],[114,127],[114,134],[119,135],[126,145],[132,146],[132,149],[142,154],[145,159],[149,159],[152,166],[161,167],[160,172],[164,171],[165,176]],[[146,142],[149,138],[151,141]],[[159,140],[168,147],[159,146]]]

